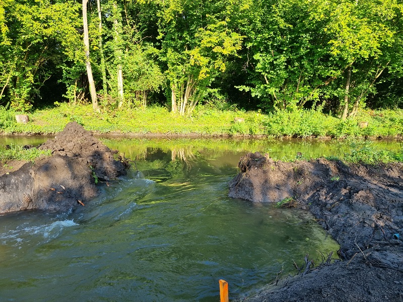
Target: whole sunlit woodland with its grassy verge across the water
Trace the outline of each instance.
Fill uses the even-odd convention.
[[[0,4],[6,132],[403,134],[397,0]]]

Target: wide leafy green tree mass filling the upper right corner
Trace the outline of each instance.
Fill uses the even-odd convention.
[[[252,23],[241,28],[250,76],[238,88],[266,109],[338,97],[341,117],[351,105],[354,115],[382,70],[397,62],[401,5],[394,0],[254,2],[249,14]]]

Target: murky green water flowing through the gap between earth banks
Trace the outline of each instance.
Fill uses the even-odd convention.
[[[278,158],[298,151],[334,155],[334,144],[104,142],[135,160],[141,173],[133,165],[71,213],[0,216],[1,301],[213,302],[219,279],[237,299],[283,268],[283,275],[293,273],[293,260],[302,264],[306,254],[317,259],[318,251],[338,249],[308,213],[227,197],[248,150],[271,149]]]

